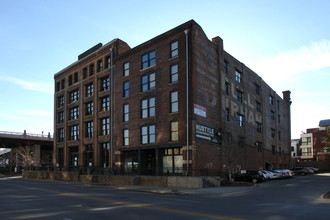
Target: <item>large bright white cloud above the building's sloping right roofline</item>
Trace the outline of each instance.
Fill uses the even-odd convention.
[[[265,81],[279,83],[303,72],[330,67],[330,41],[314,41],[296,50],[281,51],[262,57],[255,64],[255,71]]]

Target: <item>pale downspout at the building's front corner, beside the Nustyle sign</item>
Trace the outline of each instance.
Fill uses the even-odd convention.
[[[187,110],[187,170],[186,176],[189,174],[189,49],[188,49],[188,33],[189,29],[185,30],[184,33],[186,34],[186,110]]]

